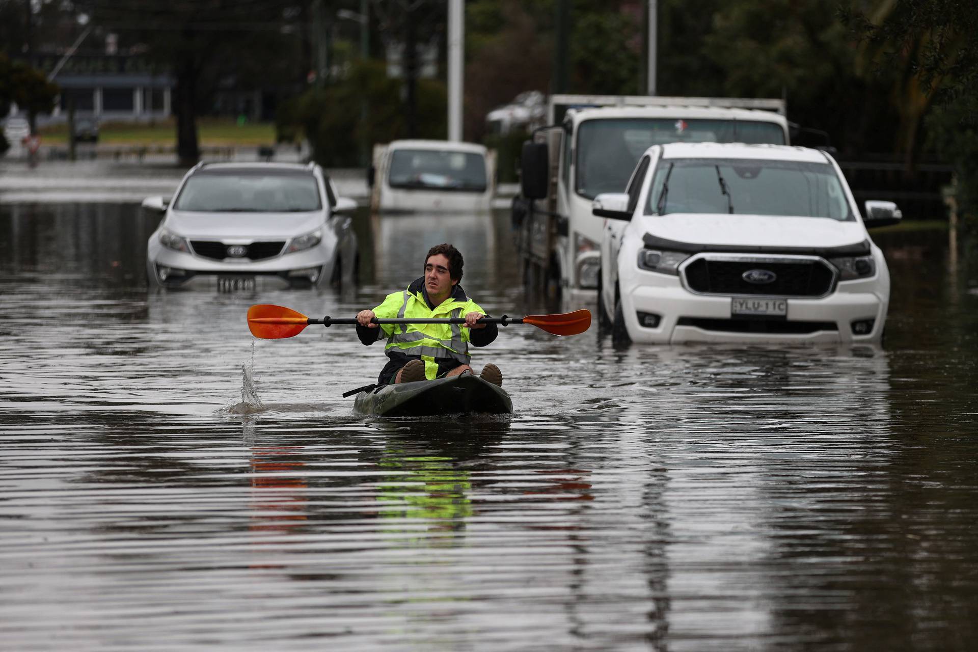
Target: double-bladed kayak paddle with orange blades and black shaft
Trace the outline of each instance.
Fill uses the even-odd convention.
[[[378,319],[374,324],[465,324],[462,318],[445,319]],[[591,312],[575,310],[562,315],[527,315],[526,317],[483,317],[482,324],[529,324],[554,335],[577,335],[591,326]],[[333,318],[324,317],[321,320],[306,317],[285,306],[274,306],[267,303],[251,306],[247,309],[247,327],[251,334],[262,339],[282,339],[294,337],[306,326],[322,324],[323,326],[357,324],[355,317]]]

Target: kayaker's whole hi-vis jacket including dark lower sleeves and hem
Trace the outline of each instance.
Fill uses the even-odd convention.
[[[411,283],[401,292],[388,294],[374,309],[378,319],[443,319],[465,318],[468,313],[483,313],[482,308],[466,296],[462,285],[456,284],[452,295],[438,306],[432,306],[424,287],[424,277]],[[379,384],[393,382],[394,375],[412,360],[424,361],[424,375],[433,380],[448,371],[467,365],[468,343],[485,346],[496,339],[498,328],[466,328],[461,324],[382,324],[378,328],[357,325],[357,335],[364,344],[387,338],[384,352],[386,366],[380,371]]]

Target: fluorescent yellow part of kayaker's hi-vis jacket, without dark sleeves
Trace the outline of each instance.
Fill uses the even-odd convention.
[[[451,296],[433,310],[428,308],[423,294],[424,278],[418,279],[402,292],[388,294],[374,314],[378,319],[465,318],[468,313],[485,311],[466,296],[458,284]],[[433,380],[438,376],[439,363],[449,361],[455,366],[467,365],[470,329],[460,324],[381,324],[377,338],[387,338],[384,352],[420,356],[424,361],[424,376]]]

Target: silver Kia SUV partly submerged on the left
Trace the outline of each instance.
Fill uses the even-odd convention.
[[[343,214],[356,203],[336,196],[318,165],[200,163],[171,203],[148,197],[143,207],[164,213],[147,246],[151,288],[323,286],[356,270]]]

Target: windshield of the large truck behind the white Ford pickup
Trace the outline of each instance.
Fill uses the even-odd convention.
[[[757,120],[685,120],[620,118],[585,120],[577,131],[578,195],[594,199],[621,193],[639,157],[666,143],[768,143],[785,145],[776,122]]]

